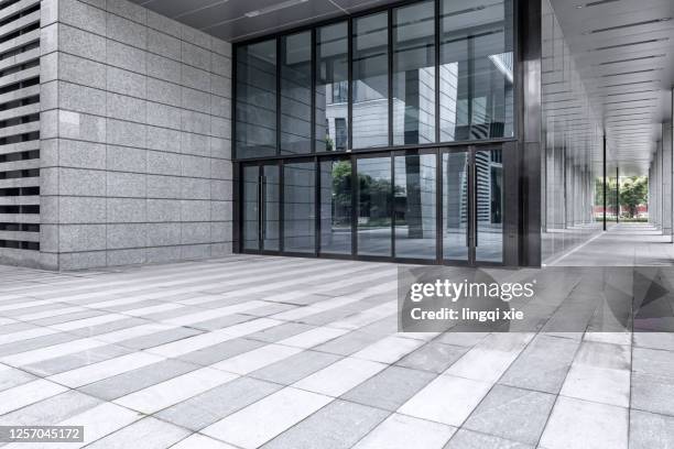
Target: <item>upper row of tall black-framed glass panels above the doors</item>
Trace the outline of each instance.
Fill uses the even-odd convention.
[[[513,138],[513,1],[420,0],[238,45],[236,157]]]

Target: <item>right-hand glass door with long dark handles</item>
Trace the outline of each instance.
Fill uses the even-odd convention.
[[[502,263],[501,149],[468,147],[441,155],[443,260],[450,264]]]

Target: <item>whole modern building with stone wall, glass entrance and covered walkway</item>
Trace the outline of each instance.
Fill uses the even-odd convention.
[[[0,3],[0,262],[540,266],[601,231],[618,166],[665,174],[671,233],[672,31],[617,25],[622,61],[622,28],[567,30],[627,15],[566,3]],[[632,79],[651,53],[659,78]],[[648,83],[667,98],[626,146]]]

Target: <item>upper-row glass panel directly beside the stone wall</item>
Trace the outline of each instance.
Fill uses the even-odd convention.
[[[237,50],[237,157],[276,154],[276,41]]]

